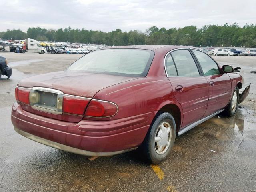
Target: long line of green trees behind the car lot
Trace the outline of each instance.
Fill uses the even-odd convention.
[[[256,47],[256,25],[246,24],[243,27],[236,23],[223,26],[205,25],[202,28],[185,26],[183,28],[150,27],[146,32],[138,30],[122,32],[116,29],[111,32],[93,31],[86,29],[45,29],[30,27],[27,32],[20,29],[0,32],[2,39],[32,38],[39,41],[63,41],[77,43],[96,43],[106,45],[138,45],[138,44],[166,44],[191,46],[246,46]]]

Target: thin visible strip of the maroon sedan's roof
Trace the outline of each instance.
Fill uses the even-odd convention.
[[[147,49],[147,50],[173,50],[177,48],[195,48],[191,46],[183,46],[183,45],[128,45],[128,46],[115,46],[115,47],[106,47],[102,49]]]

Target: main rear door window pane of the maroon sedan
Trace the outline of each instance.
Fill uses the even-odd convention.
[[[171,54],[178,71],[178,76],[200,76],[196,63],[188,50],[177,50]]]

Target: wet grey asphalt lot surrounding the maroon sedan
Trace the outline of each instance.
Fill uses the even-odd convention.
[[[10,120],[17,82],[64,70],[81,55],[0,55],[13,68],[0,80],[0,191],[256,191],[256,57],[213,56],[242,68],[245,84],[252,83],[248,98],[234,117],[216,116],[176,138],[170,157],[150,166],[136,151],[90,162],[17,134]]]

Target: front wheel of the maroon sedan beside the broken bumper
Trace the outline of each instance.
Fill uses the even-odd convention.
[[[226,106],[224,110],[224,114],[226,114],[226,116],[231,117],[236,113],[236,110],[238,108],[238,100],[239,100],[239,89],[236,86],[234,93],[232,94],[232,98],[228,106]]]

